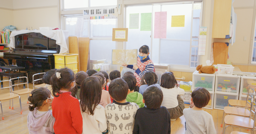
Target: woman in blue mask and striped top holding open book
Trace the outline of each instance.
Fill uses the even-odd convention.
[[[141,77],[147,72],[147,71],[153,71],[155,72],[154,69],[154,63],[153,61],[149,58],[149,47],[147,45],[143,45],[139,49],[139,55],[137,57],[137,65],[127,65],[127,64],[122,64],[122,66],[131,68],[135,70],[134,76],[136,77],[137,80],[137,86],[140,87],[140,81]]]

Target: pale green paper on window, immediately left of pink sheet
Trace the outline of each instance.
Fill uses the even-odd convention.
[[[151,31],[152,13],[140,14],[140,31]]]

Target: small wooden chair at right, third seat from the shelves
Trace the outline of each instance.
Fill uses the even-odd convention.
[[[253,99],[252,99],[252,102],[253,102],[252,104],[256,104],[255,101],[253,101]],[[226,128],[228,126],[246,128],[246,129],[251,130],[251,134],[255,134],[255,132],[254,132],[255,122],[254,121],[256,120],[256,112],[254,110],[256,111],[256,109],[251,108],[249,118],[235,116],[235,115],[226,115],[225,118],[224,118],[224,122],[225,122],[225,124],[227,124],[227,126],[223,127],[222,134],[225,134]],[[252,113],[254,114],[254,120],[251,118]],[[225,124],[224,124],[224,126],[225,126]],[[223,133],[223,131],[224,131],[224,133]],[[236,134],[236,133],[234,132],[233,134]],[[241,132],[240,132],[240,134],[241,134]]]

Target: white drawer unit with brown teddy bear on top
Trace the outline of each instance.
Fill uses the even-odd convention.
[[[207,89],[211,95],[209,103],[204,109],[213,109],[213,102],[214,102],[214,86],[215,86],[215,75],[214,74],[207,74],[207,73],[198,73],[195,71],[193,73],[193,84],[192,84],[192,91],[198,87],[203,87]]]

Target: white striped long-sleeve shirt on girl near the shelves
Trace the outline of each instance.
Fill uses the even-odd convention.
[[[177,95],[185,94],[184,89],[181,89],[179,87],[174,87],[170,89],[161,87],[161,90],[163,92],[163,102],[161,106],[165,106],[166,109],[177,107],[179,105]]]

